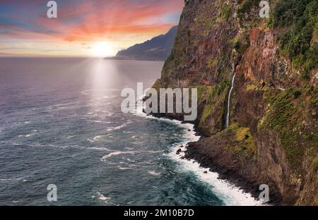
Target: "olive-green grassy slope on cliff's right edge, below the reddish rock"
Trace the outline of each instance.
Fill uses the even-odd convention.
[[[295,171],[301,169],[302,158],[309,150],[318,152],[317,87],[289,88],[284,92],[271,89],[264,93],[267,103],[266,115],[259,129],[278,133],[289,164]]]

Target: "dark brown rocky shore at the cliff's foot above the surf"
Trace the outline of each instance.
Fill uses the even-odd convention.
[[[181,121],[182,123],[189,123],[182,120],[182,116],[176,115],[166,115],[166,114],[151,114],[156,118],[167,118],[170,120]],[[240,188],[245,193],[250,193],[255,200],[259,200],[259,186],[261,184],[268,184],[271,189],[269,192],[269,202],[270,205],[281,205],[282,196],[279,193],[278,188],[274,183],[269,180],[261,181],[255,172],[256,166],[249,162],[249,159],[242,159],[237,157],[235,152],[229,152],[223,149],[225,144],[230,144],[229,137],[224,138],[225,142],[218,139],[218,137],[207,137],[204,132],[199,130],[198,126],[194,123],[194,131],[196,135],[200,136],[200,140],[197,142],[189,142],[187,146],[180,146],[177,155],[184,152],[184,157],[181,159],[186,159],[188,161],[194,160],[200,164],[202,168],[209,169],[211,172],[218,173],[219,179],[223,181],[228,181],[235,185],[235,187]],[[216,138],[218,140],[214,140]],[[215,145],[213,145],[215,144]]]

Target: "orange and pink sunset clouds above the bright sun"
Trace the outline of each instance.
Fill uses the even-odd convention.
[[[6,4],[10,2],[6,1]],[[14,2],[15,6],[18,6],[18,1]],[[35,0],[33,4],[29,2],[28,8],[40,3],[42,6],[45,2],[44,0]],[[120,49],[119,47],[128,47],[167,32],[178,22],[177,18],[168,18],[177,17],[183,6],[183,0],[63,1],[62,4],[58,4],[57,19],[47,18],[46,11],[42,10],[43,7],[41,10],[37,8],[37,16],[30,12],[32,15],[30,18],[24,17],[24,14],[11,15],[13,24],[1,23],[0,19],[2,30],[0,46],[10,47],[13,39],[51,44],[58,42],[90,44],[105,40],[116,44],[114,47]],[[23,4],[20,7],[23,7]]]

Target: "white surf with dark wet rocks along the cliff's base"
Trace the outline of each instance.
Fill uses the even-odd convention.
[[[147,118],[170,121],[187,130],[184,135],[184,142],[173,146],[168,156],[179,162],[185,171],[194,173],[200,181],[211,185],[213,192],[225,202],[225,205],[259,206],[277,204],[277,202],[261,202],[259,200],[260,192],[251,190],[255,187],[259,188],[259,185],[255,185],[256,182],[246,181],[242,177],[239,178],[235,173],[224,171],[224,168],[220,169],[220,167],[215,166],[213,161],[206,163],[204,155],[193,151],[193,145],[200,145],[201,140],[206,139],[195,123],[183,121],[179,116],[146,114],[143,112],[141,105],[139,105],[136,114]]]

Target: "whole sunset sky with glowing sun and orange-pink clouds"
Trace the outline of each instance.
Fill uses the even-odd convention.
[[[0,56],[114,56],[165,34],[184,0],[0,0]]]

